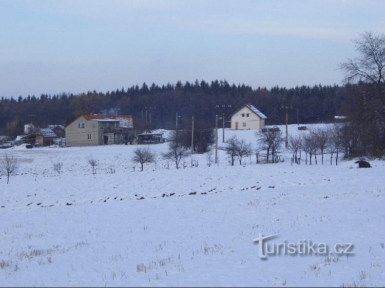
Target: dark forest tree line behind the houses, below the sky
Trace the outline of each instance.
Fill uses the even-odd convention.
[[[226,80],[208,83],[196,80],[182,84],[132,86],[106,93],[88,91],[77,95],[61,93],[18,98],[0,98],[0,135],[16,136],[23,133],[25,124],[37,127],[67,125],[81,114],[99,113],[118,108],[121,114],[133,116],[137,130],[154,128],[174,129],[176,114],[180,129],[187,129],[194,115],[201,123],[214,125],[215,115],[229,116],[247,102],[252,102],[267,115],[267,124],[284,122],[283,106],[290,107],[290,123],[329,122],[342,113],[354,85],[297,86],[295,88],[230,85]],[[298,116],[298,117],[297,117]],[[219,122],[221,125],[221,121]]]

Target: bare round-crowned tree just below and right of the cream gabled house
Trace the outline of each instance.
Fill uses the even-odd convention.
[[[279,152],[279,149],[282,146],[282,143],[285,141],[283,138],[282,132],[277,128],[265,128],[258,130],[255,133],[255,136],[258,139],[258,143],[262,150],[267,151],[267,161],[269,156],[269,151],[272,151],[273,162],[275,161],[274,156]]]

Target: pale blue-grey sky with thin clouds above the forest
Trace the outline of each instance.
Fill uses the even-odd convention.
[[[340,84],[385,1],[0,1],[0,96],[227,79]]]

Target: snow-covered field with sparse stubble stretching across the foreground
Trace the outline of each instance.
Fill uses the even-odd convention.
[[[225,132],[256,142],[254,131]],[[231,167],[220,150],[218,166],[194,155],[198,167],[189,157],[185,169],[168,170],[165,143],[151,146],[156,170],[145,164],[134,172],[135,148],[7,149],[22,166],[8,185],[0,179],[1,286],[385,284],[385,162],[292,167],[286,153],[282,163],[251,158]],[[61,178],[57,159],[65,163]],[[263,260],[253,243],[260,233],[279,234],[272,243],[353,243],[354,254]]]

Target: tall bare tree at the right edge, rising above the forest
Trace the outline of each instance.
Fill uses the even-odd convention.
[[[339,65],[352,86],[341,126],[344,157],[385,154],[385,34],[365,31],[353,40],[357,57]]]

